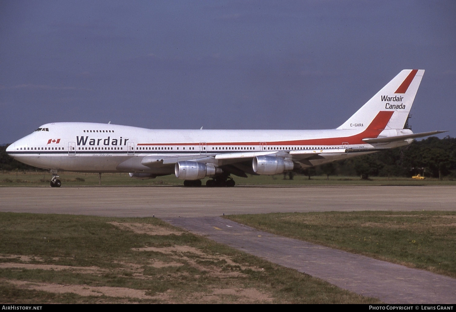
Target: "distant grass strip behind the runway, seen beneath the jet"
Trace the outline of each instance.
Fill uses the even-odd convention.
[[[97,173],[59,172],[62,186],[98,186]],[[9,172],[0,171],[0,186],[41,186],[49,187],[52,175],[48,172]],[[373,177],[370,180],[361,180],[359,177],[315,176],[309,180],[306,176],[296,175],[293,180],[284,180],[282,174],[275,176],[250,176],[248,178],[233,177],[237,185],[456,185],[456,181],[426,178],[414,180],[412,178]],[[203,179],[203,185],[207,178]],[[157,177],[149,180],[131,178],[128,173],[104,173],[102,186],[161,186],[183,185],[183,181],[174,175]]]

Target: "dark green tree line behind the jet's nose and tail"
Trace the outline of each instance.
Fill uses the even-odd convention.
[[[0,170],[41,170],[14,160],[0,146]],[[408,146],[357,156],[342,161],[327,163],[298,174],[309,177],[316,175],[368,177],[456,177],[456,138],[446,136],[439,139],[431,136],[425,140],[414,140]],[[290,178],[293,174],[286,173]]]

